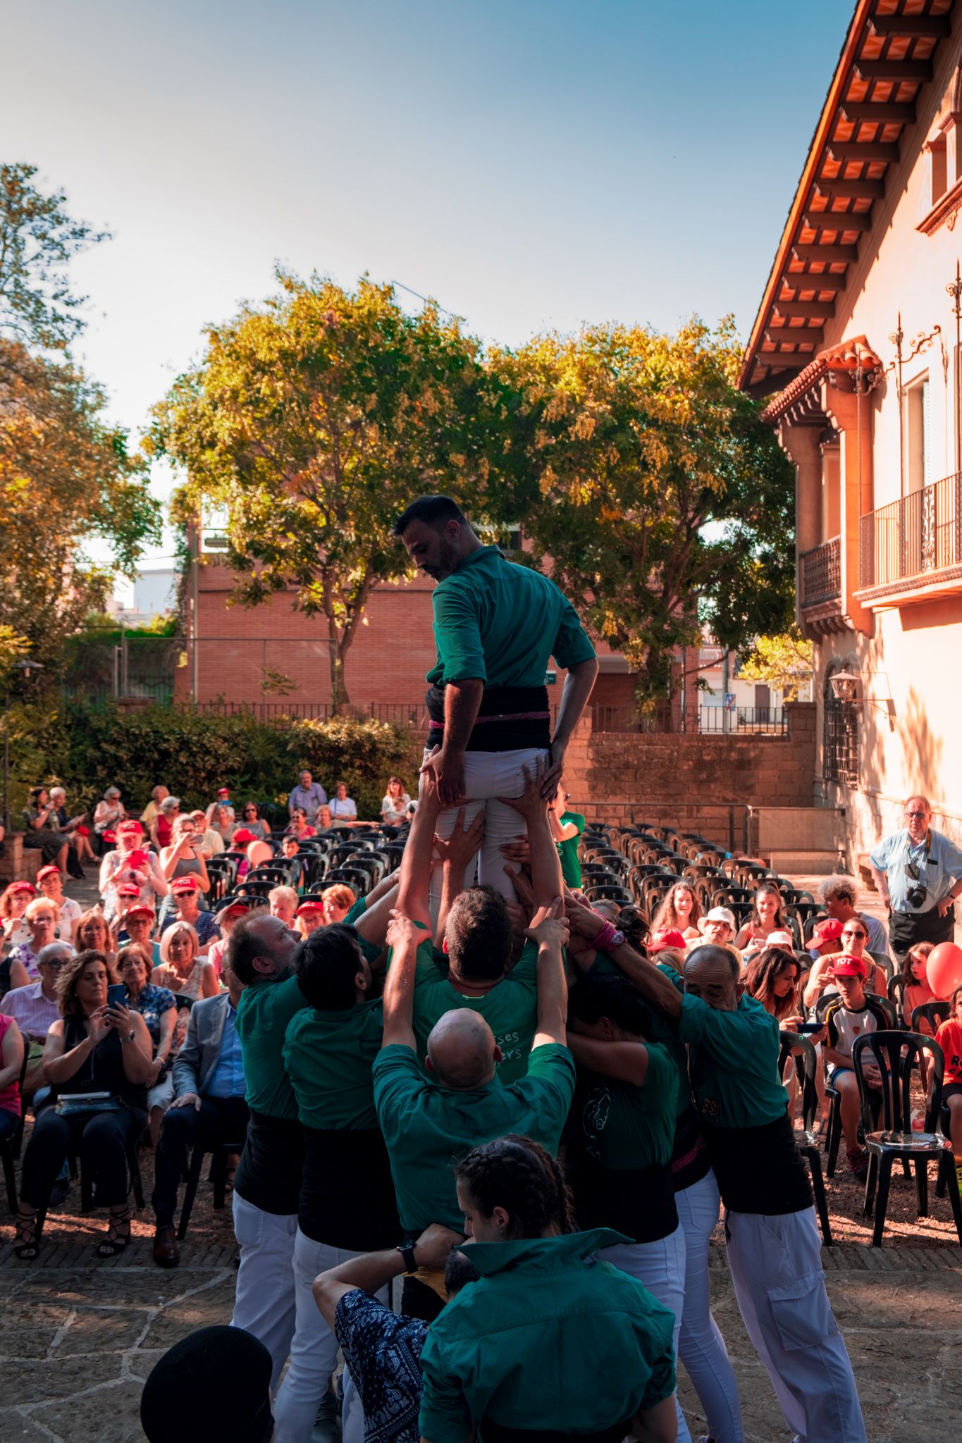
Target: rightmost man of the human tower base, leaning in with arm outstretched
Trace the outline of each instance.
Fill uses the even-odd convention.
[[[725,1205],[746,1330],[796,1443],[865,1443],[852,1365],[825,1290],[812,1188],[779,1078],[779,1025],[724,947],[688,954],[684,996],[630,948],[614,961],[688,1043],[695,1107]]]

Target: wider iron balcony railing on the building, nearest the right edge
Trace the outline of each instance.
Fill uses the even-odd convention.
[[[962,563],[962,472],[861,518],[860,590]]]

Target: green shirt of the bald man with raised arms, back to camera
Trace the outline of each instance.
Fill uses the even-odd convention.
[[[374,1061],[374,1101],[405,1232],[417,1237],[431,1222],[463,1232],[451,1163],[506,1133],[557,1153],[573,1094],[574,1059],[557,1042],[535,1048],[528,1075],[511,1087],[493,1078],[470,1092],[425,1078],[411,1048],[382,1048]]]

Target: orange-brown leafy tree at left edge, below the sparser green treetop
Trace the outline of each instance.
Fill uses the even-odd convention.
[[[159,537],[146,463],[127,453],[104,405],[69,361],[0,339],[0,626],[27,639],[50,680],[65,638],[104,606],[114,570],[133,574],[144,541]],[[91,537],[108,543],[110,570],[85,558]]]

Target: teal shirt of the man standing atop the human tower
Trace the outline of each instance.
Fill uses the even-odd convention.
[[[437,664],[427,680],[542,687],[551,657],[574,667],[594,655],[567,596],[496,545],[467,556],[433,593]],[[524,618],[524,625],[519,625]]]

